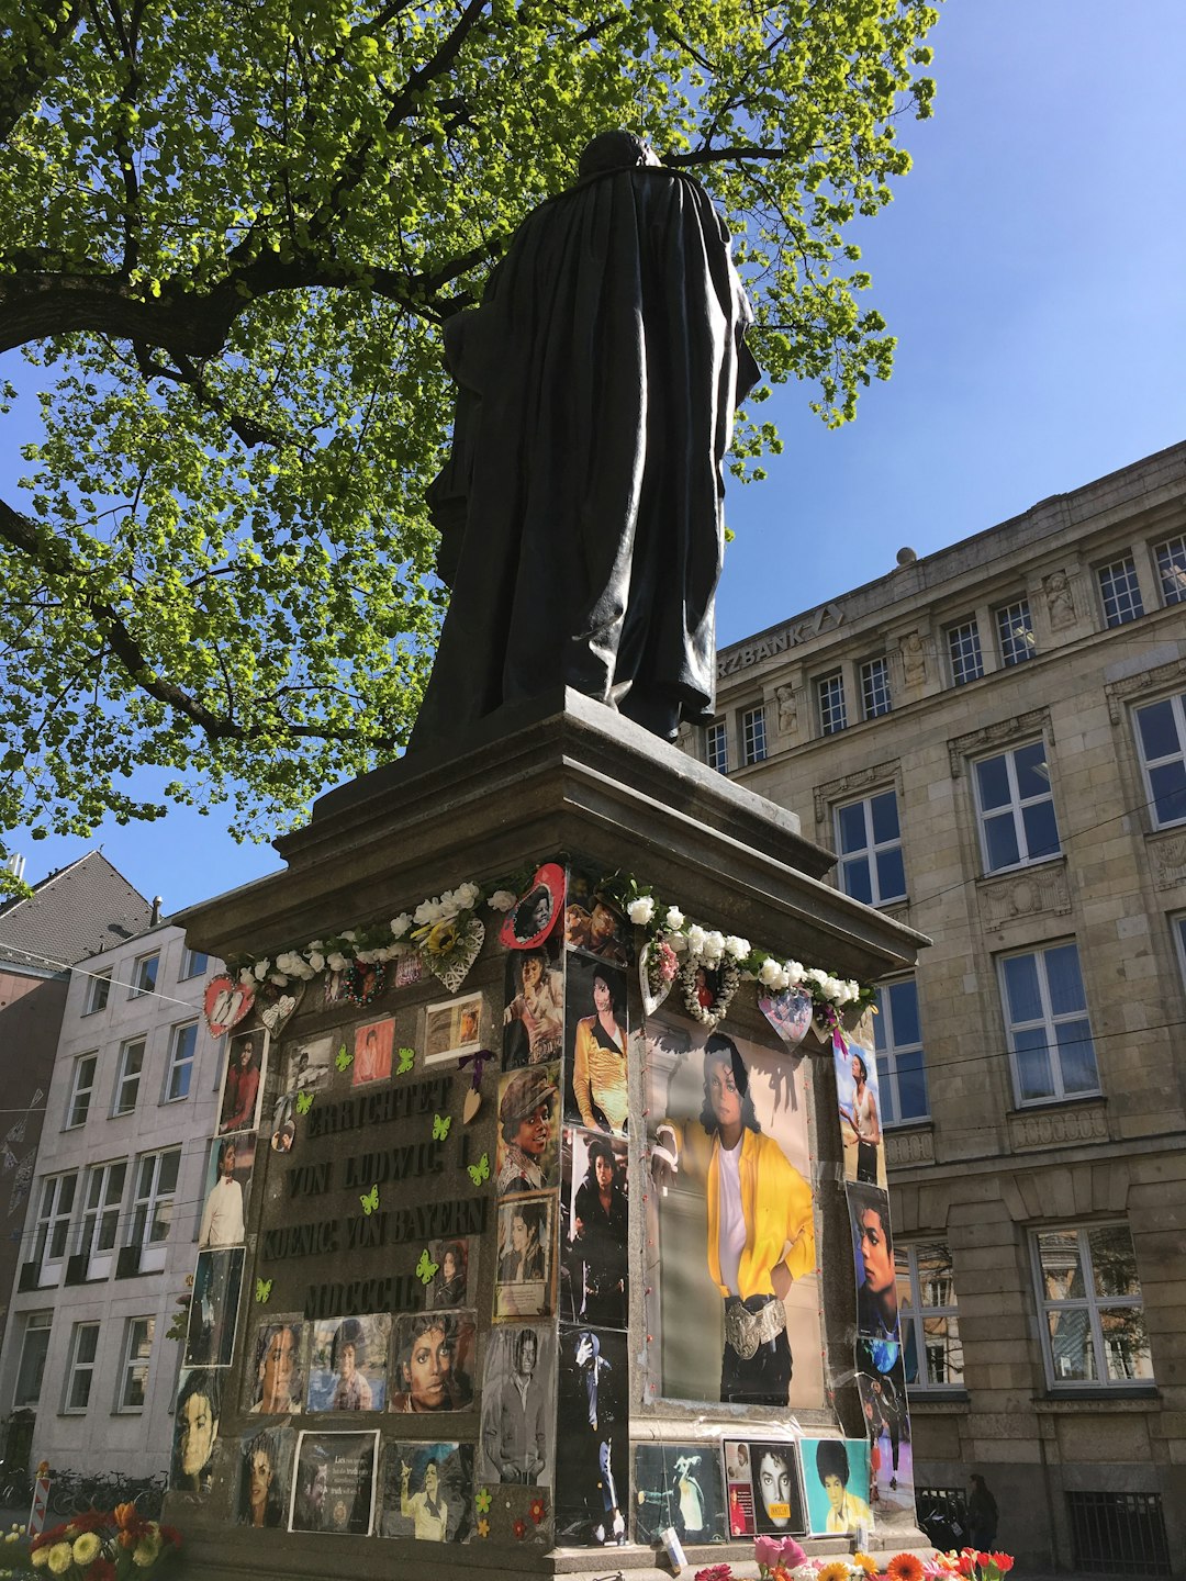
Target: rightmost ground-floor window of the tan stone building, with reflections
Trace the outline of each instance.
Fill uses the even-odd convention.
[[[1037,1300],[1050,1383],[1151,1383],[1137,1258],[1126,1224],[1034,1235]]]

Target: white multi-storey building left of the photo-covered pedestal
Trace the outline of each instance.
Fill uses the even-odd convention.
[[[217,961],[168,922],[71,971],[0,1352],[0,1413],[32,1410],[32,1459],[164,1470],[221,1043],[201,1013]]]

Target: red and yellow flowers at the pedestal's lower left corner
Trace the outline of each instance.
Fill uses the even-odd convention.
[[[147,1581],[180,1546],[172,1526],[142,1519],[134,1504],[117,1504],[114,1510],[87,1510],[38,1537],[9,1532],[0,1549],[0,1575],[21,1581],[46,1573],[65,1581]]]

